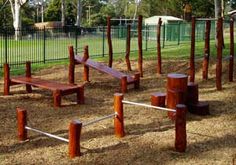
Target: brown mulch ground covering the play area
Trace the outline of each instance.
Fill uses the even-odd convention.
[[[132,61],[133,70],[137,63]],[[150,104],[153,92],[166,91],[167,73],[186,73],[186,61],[164,61],[163,75],[156,74],[156,62],[145,61],[140,89],[129,89],[126,100]],[[114,68],[126,71],[123,60]],[[201,63],[196,64],[199,98],[210,104],[210,115],[187,114],[187,150],[174,150],[174,123],[166,112],[125,106],[124,138],[114,136],[113,120],[105,120],[82,130],[82,156],[68,158],[68,145],[37,133],[29,132],[29,141],[17,140],[16,107],[27,110],[28,125],[52,134],[68,137],[69,123],[82,122],[113,113],[113,95],[119,81],[90,70],[85,85],[86,102],[75,104],[75,95],[63,97],[62,108],[53,108],[52,94],[35,89],[27,94],[24,86],[13,86],[11,95],[3,96],[0,80],[0,164],[233,164],[236,163],[236,83],[228,82],[227,65],[223,65],[223,90],[215,87],[215,65],[209,69],[209,80],[201,79]],[[236,71],[236,67],[234,68]],[[82,66],[76,67],[76,83],[82,82]],[[43,69],[33,76],[67,82],[68,66]],[[236,79],[236,74],[234,74]]]

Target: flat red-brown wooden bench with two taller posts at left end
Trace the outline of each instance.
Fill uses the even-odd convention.
[[[4,95],[10,94],[10,86],[25,84],[26,91],[32,92],[32,86],[52,91],[54,107],[61,106],[61,97],[64,95],[77,94],[77,103],[84,103],[84,86],[74,84],[61,84],[55,81],[42,80],[39,78],[33,78],[31,76],[31,64],[26,62],[26,75],[10,77],[10,68],[8,64],[4,64]]]

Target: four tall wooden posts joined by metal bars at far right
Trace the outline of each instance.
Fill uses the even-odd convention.
[[[202,65],[202,77],[203,79],[208,79],[208,65],[210,57],[210,28],[211,21],[217,21],[217,62],[216,62],[216,88],[217,90],[222,89],[222,53],[223,53],[223,18],[212,19],[212,18],[195,18],[192,17],[192,32],[191,32],[191,55],[190,55],[190,82],[194,82],[195,79],[195,24],[196,21],[206,21],[205,30],[205,48],[204,48],[204,58]],[[229,81],[233,81],[233,66],[234,66],[234,19],[230,19],[230,55],[225,57],[223,60],[229,60]]]

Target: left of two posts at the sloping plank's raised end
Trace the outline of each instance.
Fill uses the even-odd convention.
[[[68,47],[69,50],[69,83],[75,83],[75,54],[73,46]]]

